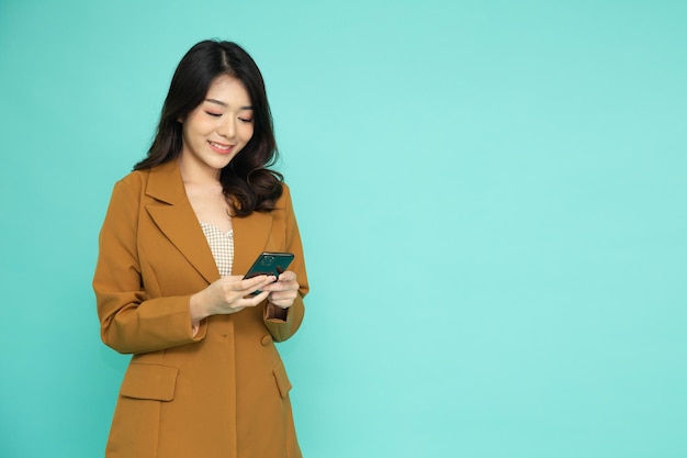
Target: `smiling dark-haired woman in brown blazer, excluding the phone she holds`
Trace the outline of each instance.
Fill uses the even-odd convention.
[[[133,354],[108,457],[301,456],[273,342],[297,331],[308,287],[275,158],[252,58],[234,43],[193,46],[100,234],[101,336]],[[279,278],[244,280],[261,252],[295,259]]]

